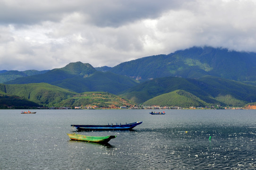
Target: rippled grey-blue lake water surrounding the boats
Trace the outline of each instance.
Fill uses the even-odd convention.
[[[255,170],[256,110],[0,110],[1,170]],[[71,141],[71,124],[132,123],[109,144]],[[211,140],[209,137],[211,136]]]

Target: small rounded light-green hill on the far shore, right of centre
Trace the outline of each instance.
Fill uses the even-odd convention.
[[[146,102],[143,105],[154,106],[159,105],[161,107],[164,106],[180,106],[180,107],[203,107],[207,106],[208,103],[202,101],[195,95],[188,93],[183,90],[176,90],[170,93],[161,94],[156,96]]]

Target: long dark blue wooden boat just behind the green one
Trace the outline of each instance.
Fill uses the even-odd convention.
[[[76,127],[77,130],[131,130],[142,122],[134,122],[128,124],[116,124],[116,125],[71,125]]]

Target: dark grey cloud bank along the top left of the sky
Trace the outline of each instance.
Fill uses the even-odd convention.
[[[156,18],[162,12],[179,7],[184,0],[8,0],[0,2],[1,24],[59,22],[78,12],[97,26],[120,26],[144,18]]]

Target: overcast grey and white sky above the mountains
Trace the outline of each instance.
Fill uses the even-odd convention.
[[[0,70],[113,67],[204,45],[256,52],[256,0],[0,0]]]

